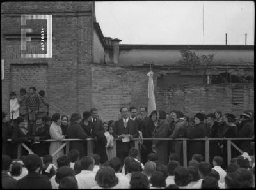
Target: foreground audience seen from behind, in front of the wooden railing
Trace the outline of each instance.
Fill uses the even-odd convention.
[[[170,154],[168,164],[161,164],[156,153],[150,153],[145,164],[138,160],[138,149],[132,147],[124,163],[113,157],[100,163],[99,154],[80,157],[71,150],[53,163],[51,155],[37,154],[11,159],[2,155],[3,189],[231,189],[255,187],[255,164],[248,153],[232,159],[224,170],[223,157],[210,163],[194,154],[188,167],[179,156]]]

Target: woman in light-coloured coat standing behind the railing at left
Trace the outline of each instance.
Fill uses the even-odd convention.
[[[60,124],[61,124],[60,113],[54,113],[52,115],[52,124],[50,126],[50,136],[52,139],[57,141],[51,142],[50,144],[49,154],[51,155],[54,154],[54,152],[61,147],[61,145],[63,144],[61,140],[65,138],[65,135],[62,135]],[[61,149],[57,154],[55,154],[54,156],[52,155],[52,163],[54,165],[57,165],[58,157],[63,154],[64,154],[64,151],[63,149]]]

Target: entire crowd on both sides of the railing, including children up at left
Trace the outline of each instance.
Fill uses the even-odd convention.
[[[76,184],[72,187],[79,189],[204,188],[209,187],[210,184],[211,187],[222,188],[224,184],[231,187],[239,183],[244,176],[239,187],[252,187],[252,184],[254,186],[254,182],[249,185],[252,171],[254,171],[252,170],[253,161],[251,162],[249,156],[254,155],[253,140],[234,140],[244,154],[241,156],[240,152],[232,149],[234,163],[231,166],[227,164],[225,140],[210,142],[211,163],[204,162],[204,141],[188,141],[188,167],[182,166],[182,141],[140,140],[139,160],[139,150],[134,148],[132,140],[133,138],[252,138],[254,137],[252,110],[244,111],[238,120],[232,113],[222,115],[221,111],[207,115],[196,113],[191,119],[179,110],[171,110],[169,113],[164,110],[154,110],[147,116],[146,107],[141,106],[138,113],[137,108],[131,106],[120,109],[117,121],[102,122],[96,108],[83,112],[83,115],[72,113],[68,118],[67,115],[60,115],[60,113],[54,113],[49,117],[48,107],[49,102],[45,99],[45,92],[41,90],[36,94],[35,87],[30,87],[28,94],[26,89],[20,89],[20,98],[17,98],[15,92],[10,94],[10,120],[7,117],[8,114],[2,112],[2,180],[5,177],[6,182],[17,184],[18,188],[24,188],[26,183],[34,178],[42,180],[35,182],[35,186],[31,183],[31,186],[54,189],[69,187],[70,184]],[[67,138],[82,140],[93,138],[95,154],[87,155],[86,141],[71,141],[70,152],[66,152],[65,149],[56,152],[63,145],[61,140]],[[116,154],[113,147],[114,138]],[[8,139],[12,141],[9,142]],[[45,142],[44,140],[47,139],[55,141]],[[35,154],[28,155],[28,151],[22,148],[23,159],[17,158],[19,142],[23,142]],[[11,159],[14,161],[12,162]],[[244,171],[244,166],[241,166],[239,160],[247,159],[249,165],[246,165],[246,171]],[[25,170],[26,175],[23,173],[23,175],[12,176],[12,170],[17,173],[20,164],[23,165],[20,171]],[[230,167],[237,169],[236,175],[232,174],[233,171],[230,175],[227,172],[228,174],[224,176],[223,173]],[[6,168],[5,172],[3,168]],[[8,170],[11,172],[8,173]],[[43,180],[45,175],[49,179],[47,182]],[[60,176],[63,176],[63,180]],[[168,179],[172,183],[168,184]],[[17,180],[17,183],[14,183],[14,180]],[[246,180],[248,184],[243,184]],[[213,186],[216,185],[216,181],[218,185]],[[44,186],[38,186],[43,182]]]

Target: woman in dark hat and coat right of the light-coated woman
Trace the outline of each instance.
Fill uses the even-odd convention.
[[[79,115],[79,113],[72,113],[70,121],[71,123],[67,129],[68,138],[79,138],[79,139],[90,138],[90,136],[88,136],[84,132],[81,126],[82,117],[81,115]],[[85,151],[86,148],[84,148],[83,141],[70,142],[70,150],[72,149],[77,149],[80,153],[80,157],[87,155],[87,152]]]

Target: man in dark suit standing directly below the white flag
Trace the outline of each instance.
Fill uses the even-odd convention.
[[[150,124],[150,118],[147,116],[147,107],[140,107],[141,130],[143,138],[152,138],[154,124]],[[152,141],[145,140],[142,145],[142,163],[148,161],[148,154],[152,152]]]

